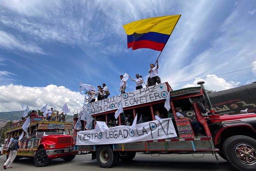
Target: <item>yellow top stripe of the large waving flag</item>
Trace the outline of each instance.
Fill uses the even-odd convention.
[[[148,33],[150,31],[170,35],[180,19],[180,16],[181,15],[143,19],[125,24],[123,27],[127,35]]]

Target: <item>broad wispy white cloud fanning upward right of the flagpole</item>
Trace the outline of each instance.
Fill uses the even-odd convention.
[[[223,74],[249,68],[256,56],[256,39],[252,36],[255,29],[250,29],[255,28],[255,22],[246,20],[246,12],[240,7],[234,6],[229,16],[214,21],[213,16],[221,8],[220,1],[213,1],[210,8],[208,1],[197,1],[193,6],[186,4],[184,14],[160,57],[161,80],[178,83],[204,77],[206,73]],[[252,79],[248,76],[247,80],[242,80],[246,79],[243,77],[245,72],[223,78],[231,80],[233,77],[236,82],[245,83]],[[183,85],[173,84],[173,88]]]

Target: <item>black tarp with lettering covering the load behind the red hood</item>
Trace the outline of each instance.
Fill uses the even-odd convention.
[[[256,113],[256,82],[208,94],[211,104],[220,115],[241,114],[241,110]]]

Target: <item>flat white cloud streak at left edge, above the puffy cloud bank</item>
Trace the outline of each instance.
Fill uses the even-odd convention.
[[[29,53],[44,54],[40,47],[27,43],[22,38],[18,40],[12,34],[9,34],[3,30],[0,30],[0,47],[9,50],[19,49]]]

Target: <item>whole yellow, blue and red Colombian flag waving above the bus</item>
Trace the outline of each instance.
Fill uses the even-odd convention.
[[[125,24],[123,27],[127,34],[128,48],[162,51],[180,16],[154,17]]]

